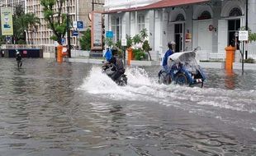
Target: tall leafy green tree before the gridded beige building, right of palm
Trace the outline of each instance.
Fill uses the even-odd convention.
[[[40,4],[44,7],[43,13],[45,21],[48,23],[48,28],[53,31],[50,39],[62,44],[62,38],[67,30],[67,16],[62,13],[62,8],[66,0],[40,0]],[[57,8],[54,9],[54,6]]]

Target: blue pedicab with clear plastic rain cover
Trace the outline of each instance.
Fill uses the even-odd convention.
[[[206,76],[197,64],[196,51],[173,53],[168,57],[168,70],[159,71],[159,83],[169,85],[197,85],[203,87]]]

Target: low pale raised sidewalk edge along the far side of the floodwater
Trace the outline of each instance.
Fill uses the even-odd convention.
[[[75,57],[69,58],[69,62],[84,62],[92,64],[102,64],[105,62],[104,58],[89,58],[89,57]],[[202,68],[214,68],[214,69],[225,69],[225,62],[199,62]],[[130,66],[135,67],[150,67],[160,66],[160,62],[157,61],[135,61],[131,60]],[[234,62],[233,69],[242,69],[242,63]],[[244,70],[256,70],[256,63],[244,63]]]

